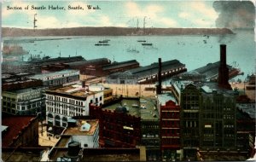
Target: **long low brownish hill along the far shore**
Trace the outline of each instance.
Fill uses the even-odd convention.
[[[232,34],[227,28],[146,28],[127,27],[73,27],[53,29],[2,28],[3,37],[22,36],[129,36],[129,35],[198,35]]]

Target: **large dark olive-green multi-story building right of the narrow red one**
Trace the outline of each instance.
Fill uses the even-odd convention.
[[[218,88],[216,83],[177,81],[174,84],[173,91],[180,92],[177,98],[181,107],[183,158],[195,159],[197,149],[236,150],[234,91]]]

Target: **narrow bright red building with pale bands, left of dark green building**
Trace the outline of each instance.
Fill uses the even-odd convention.
[[[177,159],[180,149],[180,107],[174,101],[160,105],[160,149],[163,159]]]

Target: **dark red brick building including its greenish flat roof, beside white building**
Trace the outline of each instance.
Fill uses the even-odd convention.
[[[90,117],[100,120],[102,148],[135,148],[140,143],[138,105],[138,99],[124,99],[107,107],[90,105]]]

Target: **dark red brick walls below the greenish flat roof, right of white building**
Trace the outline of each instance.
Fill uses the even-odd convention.
[[[123,107],[122,107],[123,108]],[[100,120],[102,148],[135,148],[140,142],[140,118],[118,110],[90,106],[90,118]]]

